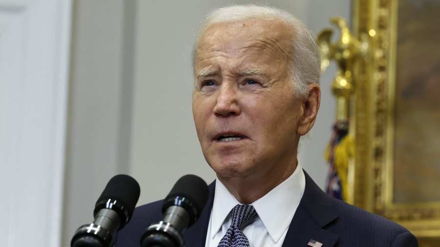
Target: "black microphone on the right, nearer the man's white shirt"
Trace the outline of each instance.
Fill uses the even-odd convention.
[[[203,179],[181,177],[163,201],[163,220],[147,228],[141,247],[183,247],[183,230],[198,220],[207,199],[208,185]]]

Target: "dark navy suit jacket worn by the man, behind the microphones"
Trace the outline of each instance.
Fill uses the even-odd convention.
[[[307,247],[313,239],[322,247],[417,247],[407,229],[385,218],[333,199],[316,185],[306,172],[303,198],[287,230],[283,247]],[[198,221],[184,233],[186,247],[204,247],[215,182]],[[140,247],[145,229],[162,219],[162,201],[139,206],[132,220],[117,236],[116,247]]]

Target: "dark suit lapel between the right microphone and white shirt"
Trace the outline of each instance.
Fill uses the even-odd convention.
[[[206,234],[208,232],[209,219],[211,218],[212,206],[214,204],[214,192],[216,182],[209,186],[209,196],[205,207],[198,221],[183,232],[183,241],[187,247],[203,247],[206,243]]]

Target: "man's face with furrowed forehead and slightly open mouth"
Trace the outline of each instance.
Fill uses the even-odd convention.
[[[193,115],[220,177],[264,176],[296,162],[304,101],[288,73],[291,34],[276,21],[211,25],[198,44]]]

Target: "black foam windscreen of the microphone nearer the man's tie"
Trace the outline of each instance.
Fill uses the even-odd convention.
[[[197,212],[200,214],[208,200],[208,185],[196,175],[185,175],[177,180],[165,201],[176,196],[188,198],[196,206]],[[197,218],[199,216],[197,215]]]

